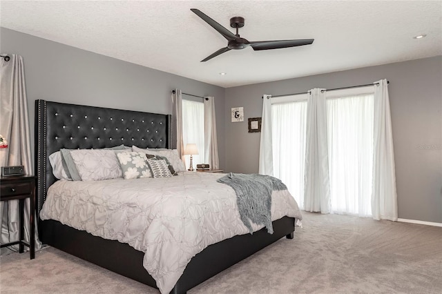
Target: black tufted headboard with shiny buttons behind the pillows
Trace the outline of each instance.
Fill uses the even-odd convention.
[[[171,115],[35,101],[35,175],[38,213],[52,175],[49,155],[61,148],[175,148]]]

